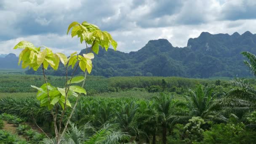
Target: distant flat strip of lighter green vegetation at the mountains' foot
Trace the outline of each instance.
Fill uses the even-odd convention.
[[[65,85],[64,77],[48,76],[47,80],[52,85],[61,87]],[[103,92],[116,92],[132,88],[146,88],[150,91],[154,86],[157,89],[163,88],[162,80],[166,81],[165,87],[170,91],[177,89],[194,88],[195,85],[201,83],[203,85],[214,84],[215,79],[191,79],[182,77],[110,77],[104,78],[99,76],[88,76],[85,83],[87,94]],[[228,79],[226,79],[228,80]],[[252,80],[254,83],[254,81]],[[16,92],[35,92],[30,85],[40,87],[44,83],[43,76],[38,75],[17,75],[17,74],[0,74],[0,92],[16,93]],[[221,83],[227,83],[221,81]],[[80,85],[78,83],[77,85]],[[158,90],[157,90],[158,91]],[[158,91],[159,92],[159,91]]]

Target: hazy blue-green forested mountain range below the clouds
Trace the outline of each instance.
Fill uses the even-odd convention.
[[[82,50],[85,51],[85,50]],[[173,47],[168,40],[150,40],[139,51],[123,53],[100,48],[95,54],[92,75],[112,76],[180,76],[180,77],[248,77],[252,76],[243,64],[242,51],[256,54],[256,34],[235,32],[232,35],[202,32],[190,38],[187,47]],[[11,59],[10,62],[7,62]],[[16,62],[15,62],[16,61]],[[0,58],[0,68],[17,66],[18,58]],[[14,67],[13,66],[13,67]],[[64,75],[64,71],[51,75]],[[78,74],[79,72],[77,72]],[[27,74],[41,74],[29,70]]]

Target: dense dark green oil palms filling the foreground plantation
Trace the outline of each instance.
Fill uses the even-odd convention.
[[[130,140],[123,139],[124,142],[135,140],[152,144],[161,141],[163,143],[174,141],[218,143],[215,140],[215,137],[219,136],[218,131],[224,133],[224,128],[228,130],[230,126],[234,125],[235,128],[240,128],[239,131],[243,131],[242,135],[233,134],[236,136],[234,140],[241,139],[250,143],[255,139],[254,132],[253,128],[246,127],[246,125],[255,123],[255,115],[253,113],[248,115],[254,106],[247,101],[248,99],[238,99],[239,96],[232,95],[237,99],[229,99],[233,91],[241,88],[237,83],[244,85],[245,81],[233,80],[227,88],[223,87],[225,83],[221,82],[221,85],[218,85],[217,81],[213,81],[213,83],[214,85],[197,85],[191,90],[184,90],[181,94],[187,96],[180,96],[183,97],[180,100],[177,99],[178,97],[169,95],[168,93],[171,92],[168,92],[168,88],[164,90],[164,93],[160,95],[155,93],[155,97],[149,99],[128,98],[124,95],[112,98],[81,97],[71,119],[71,122],[77,126],[71,127],[68,131],[69,135],[63,141],[77,140],[77,137],[74,136],[82,139],[83,136],[80,136],[79,133],[83,131],[84,125],[88,126],[87,123],[90,123],[90,128],[95,131],[102,131],[101,128],[104,128],[106,124],[118,123],[115,132],[119,131],[124,134],[118,136],[125,136],[126,133],[132,136]],[[176,95],[176,93],[173,94]],[[74,103],[75,98],[70,101]],[[70,111],[71,109],[67,112]],[[35,118],[38,125],[53,134],[51,129],[53,118],[48,109],[40,107],[40,103],[35,97],[3,98],[0,100],[0,113],[3,112],[26,117],[26,120],[31,122]],[[61,109],[58,113],[61,113]],[[238,123],[240,124],[237,125]],[[93,136],[93,132],[89,135]],[[230,134],[224,133],[223,135],[229,136]],[[102,139],[107,139],[107,137]],[[225,136],[216,139],[225,139]]]

